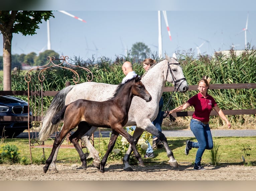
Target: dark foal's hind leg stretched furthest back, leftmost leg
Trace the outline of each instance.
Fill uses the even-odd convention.
[[[50,153],[50,156],[48,157],[48,159],[45,161],[45,166],[43,167],[43,172],[46,173],[49,165],[52,162],[52,158],[55,154],[56,148],[61,144],[61,142],[63,141],[63,139],[65,138],[65,136],[68,134],[69,130],[65,130],[63,131],[63,128],[61,129],[61,131],[57,134],[57,136],[54,139],[54,143],[52,146],[52,150]]]

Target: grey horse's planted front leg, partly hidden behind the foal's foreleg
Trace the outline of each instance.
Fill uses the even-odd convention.
[[[144,129],[136,128],[132,135],[135,145],[137,144],[141,134],[143,133]],[[124,155],[123,163],[124,163],[124,171],[132,171],[132,167],[129,164],[129,158],[132,153],[132,146],[129,144],[129,147]]]

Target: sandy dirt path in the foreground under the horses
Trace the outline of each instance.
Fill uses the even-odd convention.
[[[256,180],[256,166],[220,165],[205,166],[208,170],[196,171],[191,165],[179,164],[178,168],[166,165],[133,166],[134,171],[123,171],[122,164],[106,165],[105,173],[80,164],[59,164],[58,172],[44,174],[44,165],[0,165],[0,180]]]

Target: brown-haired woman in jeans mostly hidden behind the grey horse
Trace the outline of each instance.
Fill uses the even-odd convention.
[[[148,71],[148,69],[153,65],[155,64],[156,61],[151,59],[151,58],[146,58],[144,61],[143,61],[143,69],[145,71]],[[161,96],[160,98],[160,101],[159,101],[159,109],[158,109],[158,114],[157,114],[157,117],[156,119],[152,122],[155,127],[160,131],[162,132],[162,128],[161,128],[161,125],[162,125],[162,122],[163,122],[163,114],[164,114],[164,111],[162,111],[162,108],[163,108],[163,97]],[[163,143],[161,143],[161,141],[153,135],[153,144],[152,144],[152,148],[153,149],[156,149],[156,148],[163,148]]]

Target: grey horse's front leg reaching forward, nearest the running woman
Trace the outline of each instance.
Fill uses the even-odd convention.
[[[170,159],[168,161],[168,163],[170,164],[170,166],[172,167],[178,167],[178,163],[177,160],[174,158],[173,156],[173,152],[171,151],[168,143],[167,143],[167,139],[164,136],[164,134],[162,132],[160,132],[151,122],[148,123],[147,127],[145,128],[145,130],[149,133],[151,133],[152,135],[155,135],[157,138],[159,138],[159,140],[162,141],[163,146],[166,150],[167,153],[167,157]]]

